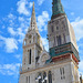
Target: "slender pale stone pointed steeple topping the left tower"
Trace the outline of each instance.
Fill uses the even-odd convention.
[[[34,11],[34,2],[33,2],[32,15],[31,15],[31,22],[30,22],[30,29],[29,30],[38,30],[35,11]]]

